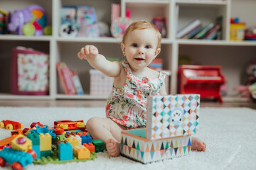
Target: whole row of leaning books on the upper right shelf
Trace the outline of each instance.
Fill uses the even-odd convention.
[[[209,23],[203,26],[199,19],[195,19],[186,26],[178,30],[176,38],[178,39],[203,39],[220,40],[221,24]]]

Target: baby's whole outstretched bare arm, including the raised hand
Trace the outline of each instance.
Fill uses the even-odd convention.
[[[119,76],[122,69],[119,62],[110,62],[106,60],[103,55],[99,54],[97,47],[93,45],[82,47],[80,52],[78,52],[78,58],[80,58],[80,60],[87,60],[93,68],[99,70],[108,77]]]

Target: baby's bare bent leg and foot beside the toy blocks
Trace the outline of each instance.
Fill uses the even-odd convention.
[[[112,157],[120,154],[121,131],[125,130],[122,125],[114,123],[109,118],[90,118],[86,123],[86,128],[95,139],[100,139],[106,144],[107,152]]]

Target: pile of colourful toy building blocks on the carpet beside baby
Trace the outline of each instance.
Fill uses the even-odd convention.
[[[11,131],[11,137],[0,140],[0,166],[4,166],[5,162],[11,164],[16,162],[14,167],[19,166],[18,168],[22,169],[32,163],[85,162],[95,159],[95,153],[104,150],[104,142],[92,139],[83,120],[55,121],[54,128],[37,122],[32,123],[31,128],[24,129],[22,123],[3,120],[0,123],[0,128],[15,129]],[[32,157],[28,155],[18,159],[14,157],[16,152],[28,153]],[[26,160],[28,157],[29,160]]]

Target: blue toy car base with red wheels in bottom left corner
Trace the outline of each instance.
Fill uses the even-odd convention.
[[[4,167],[6,162],[11,164],[11,169],[22,170],[28,164],[32,164],[36,158],[36,152],[32,149],[22,152],[16,149],[4,147],[0,152],[0,166]]]

